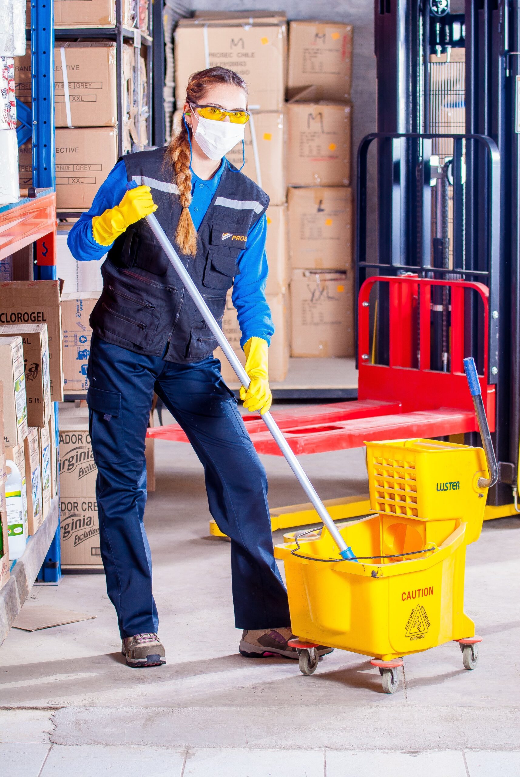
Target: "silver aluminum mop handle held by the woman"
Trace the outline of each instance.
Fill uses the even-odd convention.
[[[227,337],[224,335],[224,332],[222,331],[222,329],[220,329],[220,326],[217,324],[217,320],[213,316],[213,313],[210,311],[210,308],[208,308],[208,306],[206,305],[206,302],[204,301],[202,294],[200,294],[199,292],[199,289],[193,283],[192,278],[190,277],[188,271],[185,269],[184,265],[182,264],[182,261],[180,260],[178,254],[176,253],[174,247],[172,246],[172,243],[168,240],[168,237],[165,234],[165,231],[163,230],[163,228],[161,227],[161,225],[159,224],[157,218],[155,218],[153,213],[149,214],[146,217],[146,220],[150,225],[151,231],[154,233],[155,237],[161,243],[161,247],[164,250],[166,256],[168,256],[168,259],[172,263],[173,267],[175,267],[175,271],[179,275],[179,278],[182,280],[182,283],[189,291],[190,297],[195,302],[197,308],[199,308],[199,312],[203,315],[203,318],[206,321],[206,324],[210,327],[211,331],[213,332],[213,335],[215,336],[217,343],[224,351],[227,361],[229,361],[229,363],[231,364],[231,367],[234,369],[234,371],[237,374],[238,380],[241,382],[242,385],[248,386],[249,385],[248,373],[244,370],[244,368],[240,363],[240,360],[237,357],[237,354],[235,354],[233,348],[227,342]],[[314,486],[312,485],[312,483],[310,483],[310,480],[308,479],[307,475],[303,471],[302,465],[300,465],[300,462],[293,454],[293,451],[291,451],[291,449],[289,448],[289,444],[286,441],[286,438],[279,430],[278,425],[274,420],[274,418],[272,417],[271,413],[269,412],[264,413],[263,416],[261,416],[261,418],[264,421],[265,426],[271,432],[272,437],[274,438],[280,451],[282,451],[283,455],[286,457],[286,460],[289,463],[289,467],[293,470],[294,474],[296,475],[296,478],[300,482],[300,485],[302,486],[303,490],[307,494],[307,497],[309,497],[310,502],[314,507],[314,510],[316,510],[317,514],[321,517],[321,520],[328,528],[328,531],[330,532],[331,537],[334,539],[336,545],[338,545],[340,556],[342,556],[342,558],[345,560],[355,559],[355,555],[352,552],[352,549],[347,547],[345,540],[341,537],[341,534],[339,533],[335,522],[328,514],[324,506],[324,503],[321,501],[320,497],[318,497],[317,492],[314,489]]]

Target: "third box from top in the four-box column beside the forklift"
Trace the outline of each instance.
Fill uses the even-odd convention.
[[[287,223],[291,269],[352,267],[352,189],[289,188]]]

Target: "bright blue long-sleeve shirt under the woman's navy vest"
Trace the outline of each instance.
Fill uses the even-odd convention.
[[[192,202],[189,212],[193,224],[198,229],[202,224],[213,195],[217,191],[220,176],[227,160],[223,159],[220,168],[213,178],[206,181],[196,176],[192,171]],[[100,216],[111,207],[120,204],[128,188],[127,169],[124,162],[117,162],[105,183],[99,187],[94,197],[92,207],[82,213],[68,234],[67,244],[72,256],[80,262],[99,260],[112,246],[100,246],[92,234],[92,217]],[[153,190],[152,190],[153,196]],[[265,282],[269,271],[267,256],[265,256],[265,237],[267,234],[267,218],[265,214],[248,232],[247,245],[238,255],[237,264],[240,271],[234,279],[232,301],[237,309],[238,325],[241,329],[241,347],[251,337],[262,337],[268,345],[274,333],[271,311],[265,299]]]

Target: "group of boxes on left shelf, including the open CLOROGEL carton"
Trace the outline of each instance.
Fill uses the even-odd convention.
[[[57,497],[56,408],[63,399],[60,293],[59,280],[0,283],[2,533],[8,527],[7,545],[3,538],[0,542],[0,586],[5,582],[9,535],[19,534],[22,523],[24,535],[35,534]],[[12,513],[5,524],[7,461],[14,462],[22,480],[20,525],[12,523]]]

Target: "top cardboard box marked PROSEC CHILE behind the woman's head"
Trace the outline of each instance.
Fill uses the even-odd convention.
[[[175,99],[182,107],[189,76],[220,65],[248,84],[255,110],[283,109],[286,23],[272,19],[180,19],[175,30]]]

